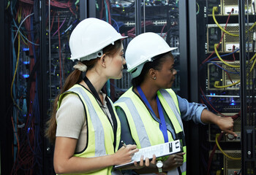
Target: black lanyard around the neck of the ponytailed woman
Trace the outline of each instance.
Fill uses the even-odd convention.
[[[98,101],[100,101],[100,103],[102,104],[102,102],[101,102],[101,100],[100,100],[100,98],[99,98],[99,94],[98,94],[97,91],[95,90],[94,85],[91,84],[90,80],[85,76],[85,77],[83,78],[83,81],[86,82],[86,85],[88,85],[88,87],[89,87],[89,89],[91,90],[91,93],[94,95],[94,97],[95,97]],[[114,148],[115,148],[115,147],[116,147],[116,130],[117,130],[116,115],[115,115],[115,113],[114,113],[114,111],[113,111],[113,107],[112,107],[112,105],[111,105],[111,103],[110,103],[108,97],[106,97],[105,99],[106,99],[106,101],[107,101],[107,106],[108,106],[108,110],[109,110],[109,112],[110,112],[110,117],[111,117],[111,119],[112,119],[112,121],[113,121],[113,133],[114,133],[114,142],[113,142],[113,145],[114,145]],[[107,116],[107,114],[106,114],[106,116]],[[108,118],[108,121],[110,122],[110,119],[109,119],[108,116],[107,116],[107,118]],[[111,122],[110,122],[110,125],[112,125]]]

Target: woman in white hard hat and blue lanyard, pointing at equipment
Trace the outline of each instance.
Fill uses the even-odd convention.
[[[177,73],[171,48],[161,36],[148,32],[129,42],[126,50],[132,88],[116,101],[121,121],[121,139],[138,148],[181,140],[183,152],[157,159],[135,170],[137,174],[186,174],[186,143],[182,120],[215,123],[222,131],[233,134],[233,119],[219,117],[203,104],[189,103],[171,89]]]

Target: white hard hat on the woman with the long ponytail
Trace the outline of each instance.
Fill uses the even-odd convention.
[[[104,47],[126,37],[121,36],[115,28],[104,20],[87,18],[78,23],[70,35],[70,59],[89,61],[100,57]]]

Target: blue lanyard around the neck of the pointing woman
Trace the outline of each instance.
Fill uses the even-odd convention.
[[[143,101],[148,106],[148,108],[157,117],[157,115],[154,113],[153,109],[151,108],[150,104],[148,103],[148,100],[147,100],[146,96],[144,95],[144,93],[143,93],[142,89],[140,88],[140,86],[137,86],[137,90],[138,90],[141,98],[143,99]],[[166,123],[165,123],[164,112],[162,112],[162,107],[161,107],[161,104],[160,104],[158,96],[157,96],[157,109],[158,109],[159,117],[160,117],[159,129],[162,131],[162,135],[164,136],[165,143],[166,143],[166,142],[168,142],[167,128],[166,128]]]

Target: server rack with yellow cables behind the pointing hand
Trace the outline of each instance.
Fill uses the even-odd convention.
[[[198,93],[190,98],[207,104],[214,113],[233,117],[234,131],[238,133],[237,138],[222,135],[216,125],[198,128],[201,132],[194,131],[197,138],[206,142],[198,140],[199,144],[192,145],[196,146],[194,150],[198,151],[199,147],[203,152],[200,155],[195,151],[195,158],[200,155],[199,162],[204,165],[199,166],[194,161],[192,172],[255,174],[255,109],[252,107],[255,106],[255,2],[208,0],[190,3],[189,24],[192,25],[189,31],[197,34],[189,40],[190,60],[196,63],[194,73],[198,77],[194,78],[197,83],[193,85],[193,91]],[[192,43],[196,43],[197,48]]]

